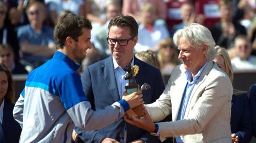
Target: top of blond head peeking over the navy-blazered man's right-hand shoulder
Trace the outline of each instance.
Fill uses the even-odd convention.
[[[159,69],[160,67],[160,63],[159,63],[159,60],[157,58],[157,54],[154,52],[154,51],[151,51],[151,50],[147,50],[147,51],[140,51],[138,53],[135,53],[135,56],[148,63],[148,64],[151,64],[152,66],[156,67]]]

